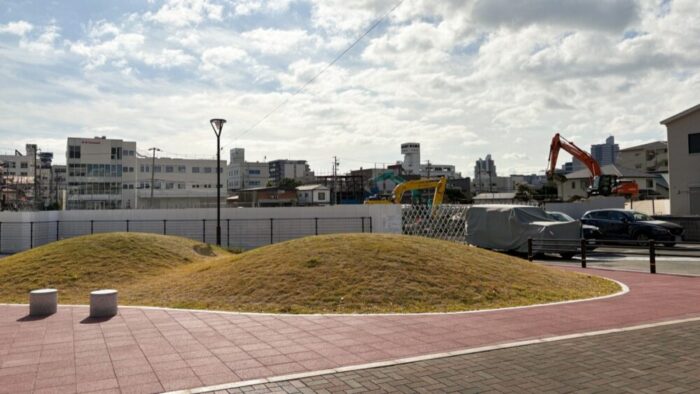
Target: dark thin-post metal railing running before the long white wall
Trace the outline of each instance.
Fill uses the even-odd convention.
[[[0,222],[0,253],[88,234],[141,232],[216,242],[216,219]],[[373,232],[372,217],[221,219],[222,246],[251,249],[309,235]]]

